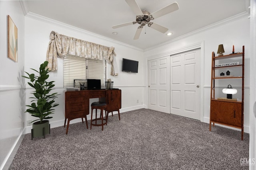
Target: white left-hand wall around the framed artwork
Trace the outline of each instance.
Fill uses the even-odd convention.
[[[18,63],[7,55],[7,15],[18,28]],[[0,169],[24,129],[24,14],[19,1],[0,1]]]

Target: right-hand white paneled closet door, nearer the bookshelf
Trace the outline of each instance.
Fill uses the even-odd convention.
[[[200,120],[200,49],[171,56],[171,113]]]

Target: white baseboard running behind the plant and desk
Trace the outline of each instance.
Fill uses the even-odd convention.
[[[133,106],[133,107],[126,107],[126,108],[122,108],[120,109],[120,113],[123,113],[123,112],[126,112],[126,111],[132,111],[132,110],[136,110],[136,109],[142,109],[142,108],[145,108],[146,105],[140,105],[140,106]],[[113,112],[113,115],[115,114],[118,114],[117,111],[114,111]],[[99,114],[98,114],[99,116]],[[97,117],[98,117],[97,116]],[[94,119],[95,115],[93,114],[93,119]],[[87,116],[87,120],[90,120],[91,117],[90,116]],[[63,120],[59,120],[59,121],[53,121],[53,122],[50,122],[50,128],[54,128],[54,127],[60,127],[60,126],[63,126],[64,127],[64,119]],[[70,121],[69,124],[73,124],[73,123],[79,123],[81,122],[82,119],[73,119]],[[68,122],[66,122],[68,123]],[[27,133],[31,133],[31,129],[32,129],[32,125],[31,126],[27,126],[26,127],[26,130],[24,131],[24,134],[27,134]]]

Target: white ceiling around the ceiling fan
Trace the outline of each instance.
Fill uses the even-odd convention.
[[[135,21],[136,15],[125,0],[28,0],[26,12],[57,20],[92,33],[148,49],[182,35],[210,27],[222,20],[248,14],[249,0],[136,0],[142,10],[153,13],[173,2],[179,10],[152,20],[172,32],[171,36],[144,26],[140,38],[134,40],[138,24],[112,29],[113,25]],[[233,17],[235,16],[235,17]],[[230,18],[231,19],[231,18]],[[57,31],[62,34],[61,31]],[[116,31],[118,34],[113,35]],[[146,34],[145,34],[146,32]],[[85,40],[86,41],[86,40]]]

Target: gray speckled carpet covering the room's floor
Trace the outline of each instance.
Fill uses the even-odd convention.
[[[110,115],[108,125],[56,127],[26,134],[10,170],[240,170],[249,134],[150,109]]]

